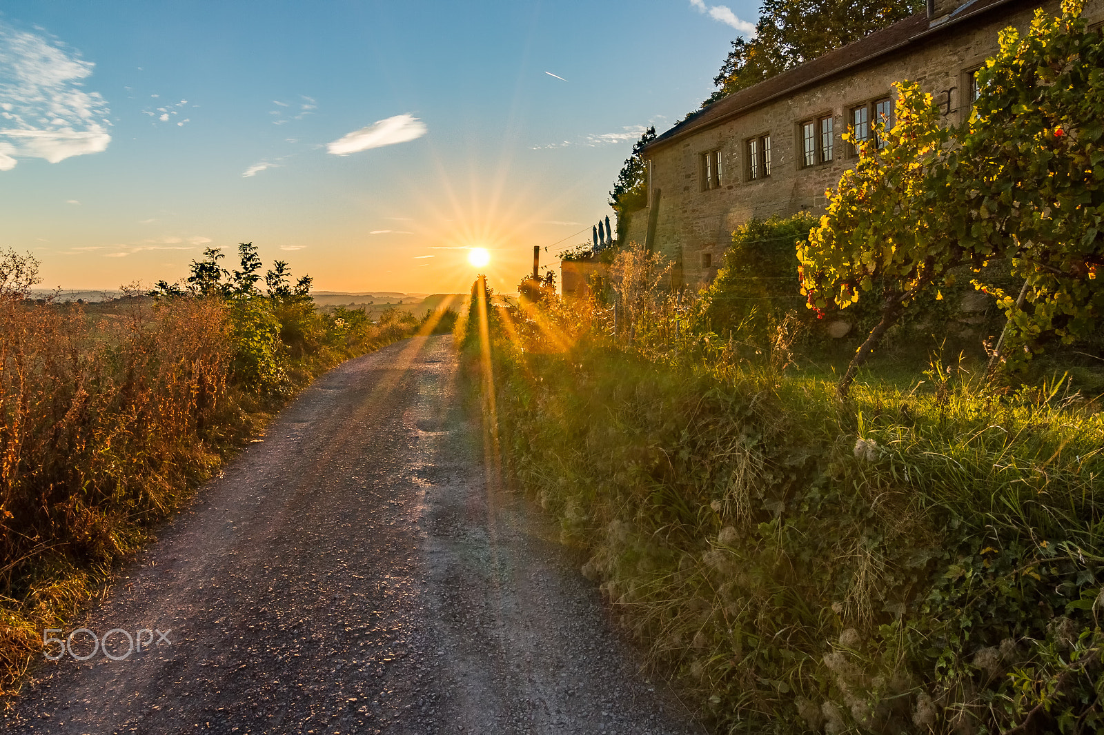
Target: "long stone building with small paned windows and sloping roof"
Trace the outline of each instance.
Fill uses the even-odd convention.
[[[1027,29],[1034,0],[928,0],[927,11],[720,99],[644,150],[648,209],[627,239],[675,260],[673,287],[700,288],[716,275],[732,231],[752,217],[825,206],[825,190],[853,164],[841,135],[890,118],[892,84],[921,85],[948,121],[969,115],[975,72],[998,50],[1001,29]],[[1042,7],[1054,14],[1059,3]],[[1090,23],[1104,0],[1085,6]]]

